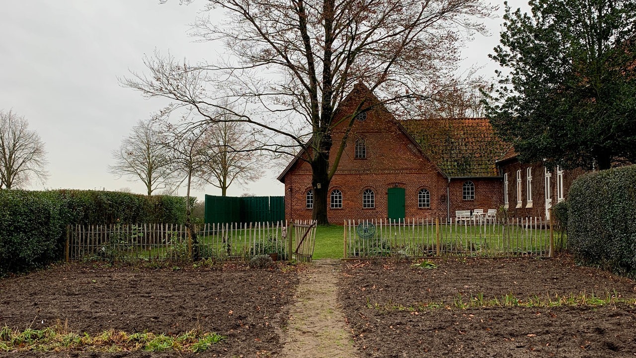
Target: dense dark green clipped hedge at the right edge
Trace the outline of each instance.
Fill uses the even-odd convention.
[[[580,176],[568,206],[568,246],[575,259],[636,275],[636,166]]]

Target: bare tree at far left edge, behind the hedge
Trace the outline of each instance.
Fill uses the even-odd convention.
[[[0,111],[0,189],[20,187],[48,178],[46,150],[38,132],[13,111]]]

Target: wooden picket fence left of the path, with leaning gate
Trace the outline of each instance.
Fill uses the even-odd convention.
[[[183,224],[109,224],[67,226],[66,261],[311,261],[315,222],[256,222],[195,225],[197,242]],[[289,233],[289,234],[288,234]],[[300,240],[294,246],[294,238]],[[198,251],[198,252],[197,252]],[[198,255],[197,255],[198,254]]]

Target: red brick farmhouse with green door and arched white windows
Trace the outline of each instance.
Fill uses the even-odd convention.
[[[329,222],[455,218],[457,210],[501,206],[516,216],[545,217],[546,207],[563,199],[574,178],[518,162],[487,118],[397,120],[361,84],[338,107],[336,122],[363,100],[370,109],[357,115],[329,183]],[[345,127],[335,127],[333,143],[340,143]],[[285,184],[285,216],[292,220],[312,217],[312,171],[305,155],[298,154],[278,178]]]

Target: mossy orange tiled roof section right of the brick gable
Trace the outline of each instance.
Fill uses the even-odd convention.
[[[495,161],[511,147],[487,118],[400,120],[424,153],[450,177],[497,176]]]

